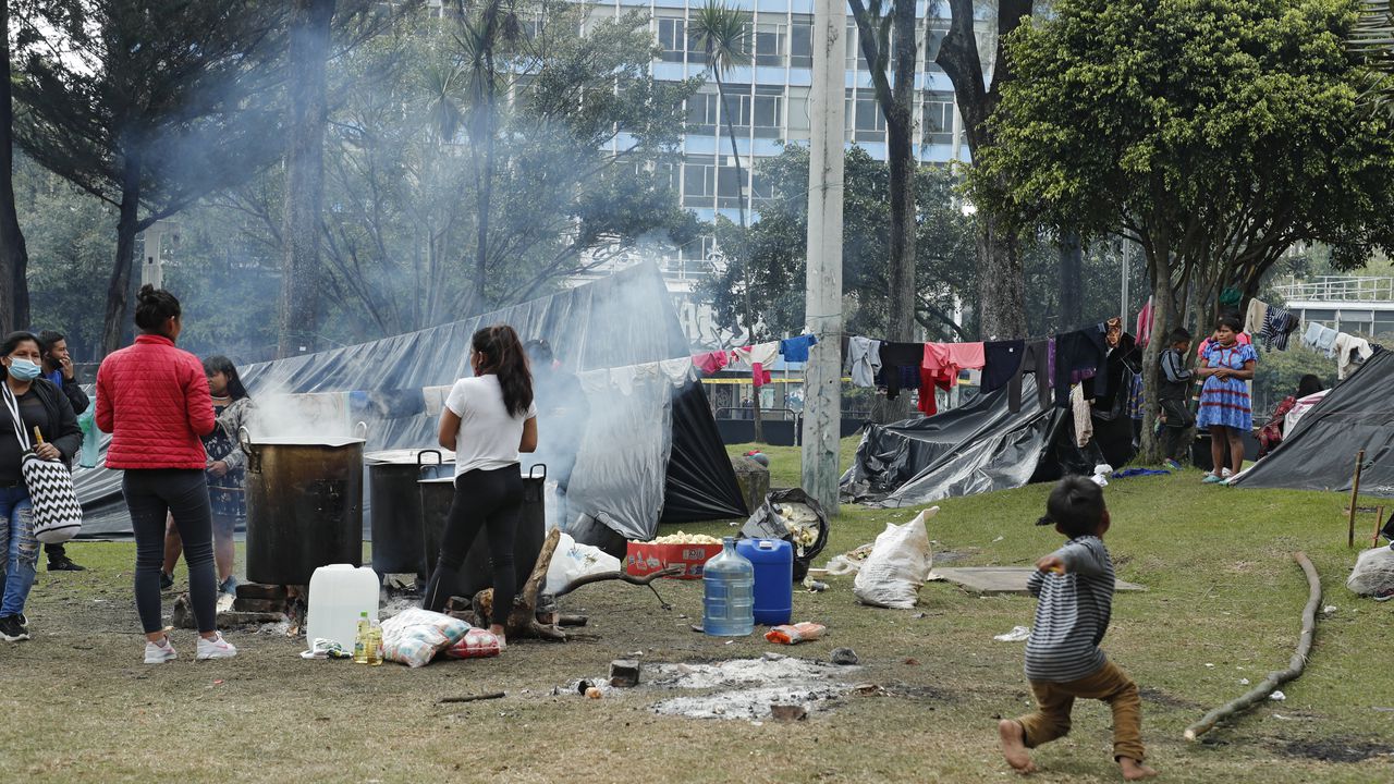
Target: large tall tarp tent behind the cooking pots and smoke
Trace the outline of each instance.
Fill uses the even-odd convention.
[[[468,374],[470,338],[489,324],[510,324],[526,340],[548,340],[583,382],[592,421],[572,478],[572,512],[625,536],[651,534],[661,518],[744,515],[687,338],[654,264],[466,321],[252,364],[241,368],[243,378],[254,398],[348,392],[348,413],[368,424],[371,451],[432,446],[438,417],[427,412],[422,391]],[[630,439],[601,423],[627,425]],[[84,536],[130,533],[120,476],[102,467],[75,472]]]

